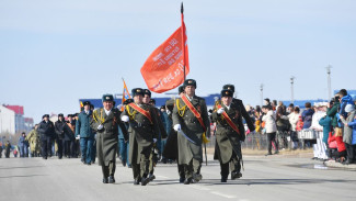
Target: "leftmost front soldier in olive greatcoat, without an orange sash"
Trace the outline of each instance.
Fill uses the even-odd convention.
[[[102,101],[104,108],[94,110],[91,127],[96,131],[97,161],[102,166],[103,183],[114,183],[118,126],[122,129],[125,138],[128,138],[127,130],[119,120],[120,111],[114,108],[114,97],[104,94]]]

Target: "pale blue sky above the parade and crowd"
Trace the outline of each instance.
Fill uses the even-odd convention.
[[[180,25],[177,0],[1,0],[0,103],[25,115],[73,113],[81,98],[146,88],[140,68]],[[197,94],[233,83],[245,104],[264,97],[328,98],[355,89],[356,1],[184,1]],[[176,91],[176,89],[174,89]],[[153,94],[154,97],[156,94]]]

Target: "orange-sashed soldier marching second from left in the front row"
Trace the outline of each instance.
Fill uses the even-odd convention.
[[[142,102],[143,90],[133,89],[134,102],[125,107],[122,120],[129,123],[129,161],[133,167],[134,185],[150,182],[149,166],[153,144],[157,142],[159,126],[154,109]]]

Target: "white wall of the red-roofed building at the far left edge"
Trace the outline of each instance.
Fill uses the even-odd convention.
[[[15,134],[15,112],[0,105],[0,133]]]

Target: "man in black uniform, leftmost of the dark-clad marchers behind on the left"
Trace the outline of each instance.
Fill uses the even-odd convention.
[[[47,159],[48,150],[51,152],[51,142],[55,137],[55,125],[49,121],[48,114],[43,115],[43,121],[38,126],[38,133],[41,134],[42,142],[42,157]]]

